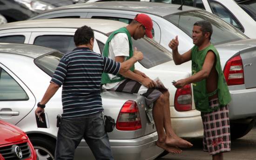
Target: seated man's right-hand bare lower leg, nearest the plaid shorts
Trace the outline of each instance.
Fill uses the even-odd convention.
[[[170,101],[169,101],[169,92],[162,91],[164,95],[164,107],[163,107],[163,114],[164,114],[164,129],[166,133],[166,140],[165,143],[168,146],[177,146],[182,148],[192,147],[193,145],[188,142],[187,140],[183,140],[182,138],[178,137],[171,127],[171,119],[170,119]]]

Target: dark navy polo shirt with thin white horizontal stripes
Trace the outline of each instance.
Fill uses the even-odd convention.
[[[87,47],[64,55],[51,82],[62,86],[63,118],[81,117],[103,111],[101,74],[117,74],[121,64]]]

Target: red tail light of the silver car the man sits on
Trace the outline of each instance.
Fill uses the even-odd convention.
[[[135,101],[124,103],[116,121],[116,129],[121,131],[134,131],[141,128],[139,108]]]

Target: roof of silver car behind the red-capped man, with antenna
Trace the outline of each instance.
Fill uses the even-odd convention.
[[[72,8],[101,8],[101,9],[115,9],[115,10],[127,10],[127,11],[135,11],[141,13],[150,13],[155,14],[157,16],[165,16],[172,13],[178,13],[182,11],[188,10],[201,10],[200,8],[183,6],[182,11],[178,8],[181,5],[175,4],[167,4],[167,3],[149,3],[149,2],[137,2],[137,1],[107,1],[107,2],[92,2],[92,3],[81,3],[76,5],[69,5],[65,7],[58,7],[52,10],[46,11],[58,11],[63,9],[72,9]]]

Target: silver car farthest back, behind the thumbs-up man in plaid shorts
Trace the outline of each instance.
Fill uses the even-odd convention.
[[[169,41],[178,35],[180,53],[193,47],[193,24],[198,20],[208,20],[214,31],[211,43],[220,53],[222,69],[232,97],[229,104],[231,138],[243,137],[256,122],[256,40],[249,40],[238,29],[212,13],[195,7],[179,7],[180,5],[148,2],[95,2],[56,8],[31,19],[92,18],[129,23],[137,13],[146,13],[153,20],[154,39],[170,50]],[[190,68],[191,62],[175,67],[183,74],[191,74]],[[166,83],[171,83],[172,80],[178,79],[174,77]],[[172,115],[181,114],[174,111]]]

